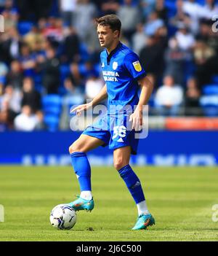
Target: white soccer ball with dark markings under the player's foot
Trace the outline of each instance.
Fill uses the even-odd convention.
[[[66,204],[59,204],[52,209],[50,222],[57,229],[69,230],[76,224],[76,212]]]

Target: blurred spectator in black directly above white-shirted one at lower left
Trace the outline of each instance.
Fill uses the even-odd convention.
[[[41,110],[41,95],[35,90],[31,77],[25,77],[23,79],[23,98],[21,106],[26,105],[31,107],[33,113]]]

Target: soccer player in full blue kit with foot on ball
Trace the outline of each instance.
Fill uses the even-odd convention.
[[[131,154],[137,154],[138,139],[135,133],[142,127],[142,107],[148,103],[153,85],[146,77],[138,56],[120,42],[121,21],[116,15],[105,15],[97,19],[97,34],[101,47],[105,48],[100,55],[105,86],[92,102],[77,106],[71,112],[80,116],[82,111],[108,98],[108,114],[88,126],[69,148],[81,189],[78,199],[69,205],[76,211],[92,211],[91,168],[86,152],[109,145],[113,150],[114,167],[137,205],[138,218],[132,229],[142,230],[154,225],[155,220],[148,211],[140,179],[129,166],[129,160]],[[127,129],[129,122],[131,129]],[[102,129],[102,123],[106,124],[106,128]]]

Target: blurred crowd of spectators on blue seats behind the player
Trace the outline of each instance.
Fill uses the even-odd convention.
[[[150,115],[205,115],[203,88],[218,85],[217,1],[0,0],[0,131],[69,128],[69,106],[104,85],[94,20],[112,13],[155,85]]]

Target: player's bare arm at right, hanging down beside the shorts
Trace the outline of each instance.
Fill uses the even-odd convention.
[[[137,104],[134,113],[129,117],[129,121],[132,122],[132,129],[140,131],[142,128],[142,110],[143,106],[148,104],[148,100],[153,92],[153,84],[148,77],[142,77],[138,80],[141,86],[140,101]]]

